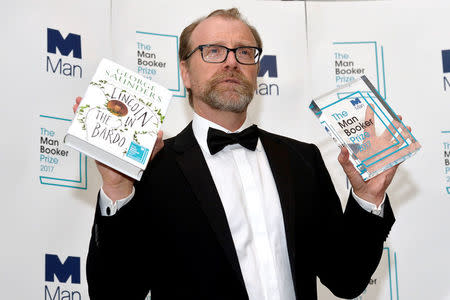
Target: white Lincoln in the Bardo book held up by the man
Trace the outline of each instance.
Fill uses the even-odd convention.
[[[140,180],[171,98],[163,86],[103,59],[64,142]]]

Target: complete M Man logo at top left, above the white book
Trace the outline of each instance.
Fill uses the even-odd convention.
[[[46,71],[64,77],[82,78],[81,36],[69,33],[65,38],[57,29],[47,28]]]

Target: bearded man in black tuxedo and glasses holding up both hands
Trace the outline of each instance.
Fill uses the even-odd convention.
[[[339,297],[363,292],[394,222],[396,168],[364,182],[343,149],[342,213],[314,145],[245,122],[261,47],[237,9],[183,31],[193,122],[164,147],[159,134],[140,182],[99,164],[91,299],[317,299],[317,277]]]

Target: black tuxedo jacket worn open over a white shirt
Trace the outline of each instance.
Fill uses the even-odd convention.
[[[394,223],[350,197],[345,213],[316,146],[260,130],[281,201],[297,299],[319,277],[353,298],[375,271]],[[165,141],[114,216],[97,208],[87,258],[91,299],[248,299],[225,211],[189,125]]]

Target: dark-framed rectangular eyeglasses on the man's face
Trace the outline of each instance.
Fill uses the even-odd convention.
[[[234,52],[234,57],[238,63],[243,65],[255,65],[259,62],[262,53],[262,49],[258,47],[245,46],[230,49],[222,45],[200,45],[192,50],[186,56],[186,59],[191,57],[191,55],[199,49],[202,53],[203,61],[214,64],[223,63],[227,60],[228,53],[231,51]]]

